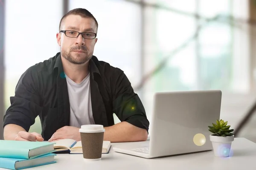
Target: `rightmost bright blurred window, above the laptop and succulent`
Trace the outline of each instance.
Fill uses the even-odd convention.
[[[220,5],[221,4],[221,5]],[[200,0],[199,14],[205,17],[231,15],[230,0]],[[200,89],[230,90],[232,86],[232,31],[227,23],[212,21],[206,24],[198,37]]]

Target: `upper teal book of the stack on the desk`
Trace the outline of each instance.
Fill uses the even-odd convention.
[[[52,142],[0,140],[0,157],[4,158],[31,159],[54,151]]]

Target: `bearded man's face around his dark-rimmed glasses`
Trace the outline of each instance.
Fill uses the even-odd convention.
[[[84,18],[72,14],[62,21],[61,30],[97,33],[97,26],[93,18]],[[81,34],[78,37],[67,37],[61,32],[57,34],[57,41],[61,47],[62,57],[70,63],[83,64],[92,58],[97,38],[85,39]]]

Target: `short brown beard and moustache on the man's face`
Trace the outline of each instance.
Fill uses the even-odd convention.
[[[82,50],[84,52],[79,54],[73,52],[74,50]],[[61,56],[64,57],[70,63],[79,65],[89,61],[93,56],[93,52],[88,52],[85,46],[74,46],[70,48],[69,52],[61,48]]]

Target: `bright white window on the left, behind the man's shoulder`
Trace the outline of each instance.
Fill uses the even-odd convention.
[[[62,0],[6,0],[5,23],[5,107],[23,72],[59,52],[56,41],[62,17]],[[35,129],[33,129],[35,128]],[[32,131],[40,132],[36,118]]]

